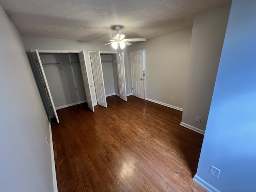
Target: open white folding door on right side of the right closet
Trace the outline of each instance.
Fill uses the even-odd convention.
[[[126,79],[125,79],[125,70],[124,70],[124,54],[117,54],[117,75],[118,75],[118,89],[119,97],[122,100],[127,101],[126,97]]]

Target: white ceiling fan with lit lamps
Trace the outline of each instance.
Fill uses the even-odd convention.
[[[120,26],[115,26],[116,34],[112,35],[113,36],[113,40],[107,40],[107,39],[99,39],[99,40],[111,41],[110,43],[107,43],[107,44],[104,44],[104,45],[111,44],[111,46],[114,49],[118,49],[118,48],[123,49],[125,46],[131,45],[131,43],[129,43],[129,42],[146,41],[146,39],[144,39],[144,38],[124,39],[125,35],[119,33],[120,29],[121,29]]]

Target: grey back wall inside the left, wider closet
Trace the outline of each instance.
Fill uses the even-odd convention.
[[[58,65],[60,68],[43,65],[56,109],[85,102],[86,95],[78,54],[40,53],[40,58],[43,64],[70,62],[70,60],[72,62]]]

